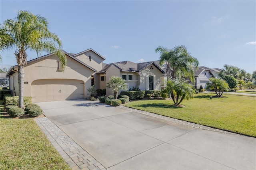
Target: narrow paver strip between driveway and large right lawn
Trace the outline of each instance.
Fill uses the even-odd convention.
[[[137,113],[141,113],[141,114],[152,116],[152,117],[157,117],[157,118],[160,118],[160,119],[164,119],[166,121],[179,123],[179,124],[187,125],[187,126],[194,127],[194,128],[199,128],[199,129],[204,129],[204,130],[211,130],[211,131],[215,131],[215,132],[232,133],[232,132],[228,132],[228,131],[225,131],[225,130],[206,127],[206,126],[203,126],[203,125],[198,125],[196,123],[190,123],[190,122],[186,122],[186,121],[182,121],[182,120],[178,120],[178,119],[158,115],[158,114],[155,114],[155,113],[150,113],[150,112],[146,112],[146,111],[133,109],[133,108],[130,108],[130,107],[124,107],[124,106],[118,106],[118,107],[121,108],[121,109],[126,109],[126,110],[129,110],[129,111],[132,111],[132,112],[137,112]],[[234,134],[234,133],[232,133],[232,134]]]

